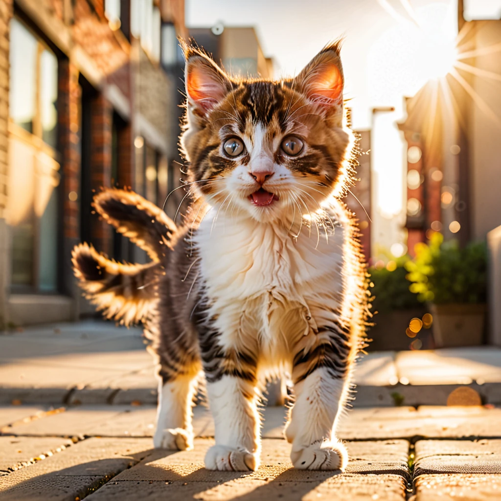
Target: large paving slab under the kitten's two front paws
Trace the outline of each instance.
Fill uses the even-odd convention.
[[[88,499],[405,499],[405,440],[347,443],[351,461],[343,474],[294,469],[291,445],[274,439],[263,440],[255,472],[208,471],[203,457],[213,443],[199,438],[192,451],[157,450]]]

